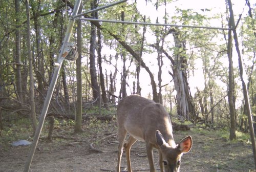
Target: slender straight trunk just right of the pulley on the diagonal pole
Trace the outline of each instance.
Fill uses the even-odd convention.
[[[78,13],[82,11],[82,3],[79,7]],[[78,20],[77,25],[77,52],[78,58],[76,60],[76,117],[75,117],[75,133],[82,132],[82,70],[81,70],[81,59],[82,59],[82,22]]]

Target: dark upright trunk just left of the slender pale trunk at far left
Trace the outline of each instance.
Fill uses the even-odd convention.
[[[16,87],[17,87],[17,93],[18,93],[18,101],[24,102],[23,100],[23,89],[22,89],[22,67],[20,64],[20,13],[19,13],[19,1],[15,0],[15,15],[16,15],[16,30],[15,30],[15,61],[16,61]]]

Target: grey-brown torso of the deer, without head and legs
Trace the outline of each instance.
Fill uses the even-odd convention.
[[[175,146],[170,117],[164,106],[138,95],[127,96],[117,107],[117,123],[134,138],[159,147],[156,131],[160,131],[169,145]]]

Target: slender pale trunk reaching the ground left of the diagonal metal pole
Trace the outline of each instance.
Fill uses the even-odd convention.
[[[35,113],[35,99],[34,99],[34,79],[33,79],[33,63],[30,41],[30,12],[29,12],[29,0],[26,0],[26,13],[27,13],[27,44],[28,44],[28,56],[29,56],[29,100],[31,109],[31,119],[33,125],[33,131],[36,131],[36,113]]]

